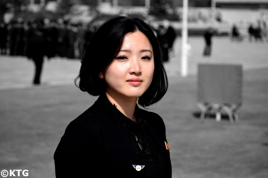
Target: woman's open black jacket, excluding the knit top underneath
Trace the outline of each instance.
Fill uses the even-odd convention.
[[[166,149],[166,130],[162,118],[136,107],[168,163],[163,177],[171,177],[171,161]],[[106,96],[98,100],[66,128],[54,153],[56,177],[143,177],[133,165],[137,158],[124,116]],[[167,142],[167,141],[166,141]],[[146,165],[144,169],[146,169]]]

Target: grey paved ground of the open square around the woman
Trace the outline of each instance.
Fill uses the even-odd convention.
[[[204,40],[190,37],[189,42],[188,76],[180,76],[177,38],[166,63],[169,91],[149,109],[166,124],[173,177],[267,178],[268,43],[214,37],[211,57],[203,57]],[[199,120],[198,63],[242,64],[238,123],[224,116],[221,122]],[[79,60],[46,60],[42,85],[32,86],[32,61],[0,56],[0,171],[28,169],[29,177],[55,177],[53,154],[66,126],[96,100],[74,87],[79,67]]]

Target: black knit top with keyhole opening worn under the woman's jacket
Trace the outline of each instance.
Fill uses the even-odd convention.
[[[108,102],[110,103],[109,100]],[[113,110],[116,112],[118,119],[126,124],[138,160],[143,163],[141,166],[146,166],[147,168],[142,171],[143,177],[164,177],[165,171],[167,171],[167,163],[155,140],[152,139],[153,137],[148,128],[146,128],[146,124],[141,119],[138,113],[138,106],[135,109],[137,122],[123,115],[115,104],[111,106],[114,107]]]

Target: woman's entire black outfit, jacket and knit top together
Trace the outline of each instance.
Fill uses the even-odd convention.
[[[138,106],[135,117],[137,122],[99,96],[67,126],[54,153],[56,177],[171,178],[163,119]]]

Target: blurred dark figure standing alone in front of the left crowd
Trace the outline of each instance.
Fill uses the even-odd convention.
[[[40,84],[40,76],[43,68],[44,55],[46,53],[46,33],[43,21],[34,19],[30,23],[27,31],[27,50],[26,54],[35,64],[35,75],[33,84]]]

